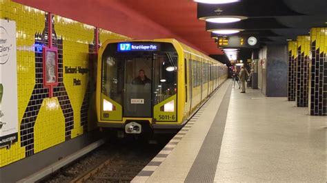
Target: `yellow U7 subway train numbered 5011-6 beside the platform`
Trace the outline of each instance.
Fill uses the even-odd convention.
[[[175,39],[106,41],[97,65],[97,125],[126,133],[181,129],[228,77]]]

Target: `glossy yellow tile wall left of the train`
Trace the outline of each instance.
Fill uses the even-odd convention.
[[[0,6],[1,19],[8,18],[17,23],[17,97],[19,113],[19,141],[12,144],[10,149],[0,149],[0,167],[2,167],[26,158],[26,148],[21,143],[20,123],[26,113],[26,107],[30,103],[36,85],[35,65],[36,59],[40,59],[40,57],[35,56],[34,36],[43,32],[46,25],[46,12],[10,0],[0,0]],[[62,39],[63,42],[63,69],[66,66],[88,69],[89,46],[95,39],[94,27],[55,15],[54,30],[58,39]],[[101,42],[106,41],[106,39],[128,39],[126,36],[108,30],[100,30],[99,34]],[[73,85],[74,78],[81,80],[81,85]],[[71,138],[75,138],[87,131],[81,125],[81,107],[83,100],[86,100],[86,91],[89,87],[88,79],[89,74],[63,74],[63,84],[68,94],[69,103],[74,111]],[[63,99],[61,98],[61,100]],[[34,123],[34,130],[32,131],[34,136],[33,153],[39,153],[67,140],[65,139],[65,116],[59,103],[59,97],[44,98],[40,105]],[[86,115],[89,116],[88,120],[90,120],[88,125],[95,126],[95,118],[93,118],[95,115]]]

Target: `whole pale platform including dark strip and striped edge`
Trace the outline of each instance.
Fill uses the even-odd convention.
[[[326,182],[326,122],[226,81],[132,182]]]

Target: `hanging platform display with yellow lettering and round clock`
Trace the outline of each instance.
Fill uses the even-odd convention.
[[[259,48],[258,36],[219,36],[218,47]]]

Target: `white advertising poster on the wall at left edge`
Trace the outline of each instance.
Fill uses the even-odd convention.
[[[0,19],[0,147],[17,142],[16,23]]]

